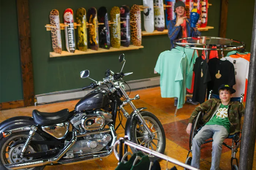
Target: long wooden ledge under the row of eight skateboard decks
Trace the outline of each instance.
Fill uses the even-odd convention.
[[[63,56],[69,56],[69,55],[83,55],[83,54],[95,54],[95,53],[107,53],[107,52],[113,52],[113,51],[126,51],[126,50],[138,50],[144,48],[143,46],[134,46],[130,45],[129,47],[120,46],[119,49],[110,47],[109,50],[99,48],[99,50],[92,50],[87,49],[87,51],[80,51],[75,50],[75,53],[69,53],[68,51],[62,51],[61,54],[50,52],[50,57],[63,57]]]

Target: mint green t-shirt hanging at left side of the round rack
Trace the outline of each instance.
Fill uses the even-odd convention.
[[[178,97],[177,108],[185,103],[186,79],[188,75],[187,55],[176,48],[162,52],[155,65],[160,74],[161,97]]]

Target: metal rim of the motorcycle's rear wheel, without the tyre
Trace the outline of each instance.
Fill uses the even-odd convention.
[[[11,147],[12,144],[14,144],[15,142],[18,142],[19,140],[26,140],[26,139],[27,139],[27,135],[16,135],[8,139],[3,144],[1,148],[1,162],[3,163],[3,165],[9,164],[9,163],[25,162],[33,159],[33,157],[17,158],[17,155],[22,150],[23,144],[19,144],[15,147]],[[35,152],[34,148],[29,146],[25,153],[27,154],[27,153],[33,153],[33,152]],[[32,169],[34,169],[34,167],[26,170],[32,170]]]

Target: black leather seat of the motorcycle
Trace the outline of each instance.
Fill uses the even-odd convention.
[[[32,116],[35,123],[37,123],[38,125],[52,125],[67,120],[69,116],[69,111],[68,109],[63,109],[58,112],[47,113],[39,112],[38,110],[33,110]]]

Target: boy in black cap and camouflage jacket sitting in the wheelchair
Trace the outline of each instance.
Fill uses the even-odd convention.
[[[229,85],[221,85],[218,91],[220,99],[211,98],[196,107],[186,129],[190,135],[193,120],[200,111],[205,112],[202,117],[203,127],[192,140],[191,166],[197,169],[200,164],[201,145],[207,139],[213,139],[211,170],[218,170],[224,139],[229,134],[240,132],[240,117],[244,116],[244,105],[238,101],[230,101],[236,90]]]

